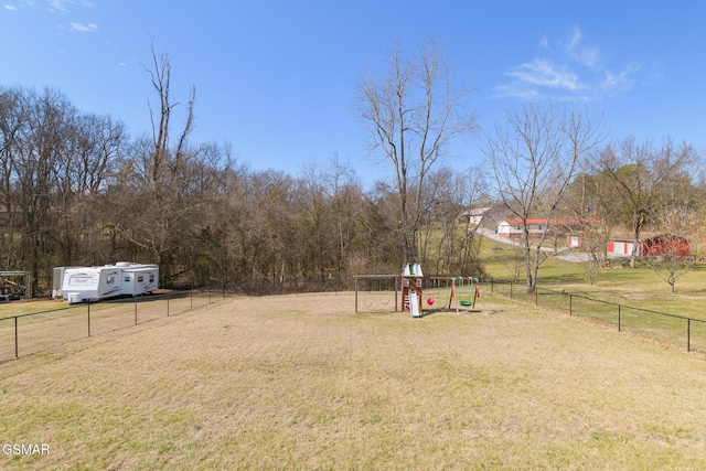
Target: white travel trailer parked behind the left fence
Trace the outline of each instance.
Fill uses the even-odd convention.
[[[159,282],[159,266],[129,261],[103,267],[71,267],[63,271],[62,297],[72,304],[148,295],[157,290]]]

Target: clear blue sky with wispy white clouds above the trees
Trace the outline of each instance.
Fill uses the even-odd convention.
[[[395,41],[432,40],[475,92],[490,128],[527,99],[585,104],[616,139],[672,137],[706,153],[706,3],[695,1],[0,0],[0,85],[56,88],[82,111],[150,131],[143,64],[168,53],[192,140],[227,141],[242,163],[298,174],[335,152],[363,181],[375,163],[355,85]],[[174,116],[179,131],[181,116]],[[481,135],[449,164],[482,160]]]

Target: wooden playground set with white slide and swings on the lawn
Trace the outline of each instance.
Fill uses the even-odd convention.
[[[355,312],[359,312],[359,297],[364,298],[363,302],[366,308],[371,308],[375,298],[384,300],[383,304],[387,306],[393,289],[394,311],[396,312],[398,310],[397,286],[400,286],[402,310],[409,311],[413,318],[421,318],[425,309],[427,311],[454,310],[459,313],[460,308],[473,308],[479,300],[483,302],[478,278],[425,277],[419,264],[405,264],[400,276],[360,275],[354,279]],[[384,292],[388,293],[387,297],[382,295]]]

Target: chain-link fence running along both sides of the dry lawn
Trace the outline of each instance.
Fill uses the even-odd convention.
[[[178,315],[210,304],[226,295],[335,292],[353,290],[354,279],[321,282],[257,282],[170,292],[131,299],[67,306],[51,311],[0,319],[0,363],[53,349],[92,335],[127,329]],[[523,283],[490,280],[490,291],[513,300],[566,312],[657,342],[706,353],[706,321],[608,302],[580,293],[537,287],[527,293]]]

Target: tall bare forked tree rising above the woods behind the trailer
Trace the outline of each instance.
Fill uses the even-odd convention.
[[[114,227],[129,244],[148,254],[148,258],[160,264],[163,281],[175,279],[192,269],[193,257],[185,256],[195,250],[199,224],[204,213],[205,195],[199,190],[199,172],[207,159],[218,149],[190,147],[188,136],[193,128],[194,87],[191,87],[186,115],[176,143],[171,139],[173,109],[179,103],[171,98],[171,64],[168,54],[159,55],[152,45],[152,68],[145,67],[159,103],[156,113],[149,105],[152,121],[151,142],[141,140],[136,152],[124,168],[121,184],[111,194],[115,218]],[[181,254],[181,255],[180,255]]]

